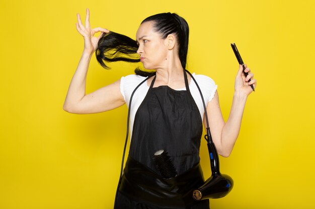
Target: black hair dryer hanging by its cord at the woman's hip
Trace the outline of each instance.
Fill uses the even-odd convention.
[[[219,157],[212,141],[209,128],[207,128],[205,139],[207,140],[207,146],[210,155],[212,175],[204,182],[202,186],[193,191],[193,198],[197,201],[207,198],[221,198],[228,194],[233,188],[233,179],[226,174],[220,173]]]

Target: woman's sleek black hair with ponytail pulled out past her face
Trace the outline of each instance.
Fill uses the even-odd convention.
[[[161,13],[144,19],[142,23],[148,21],[152,21],[154,32],[160,33],[162,39],[166,39],[169,34],[177,36],[179,58],[183,69],[186,69],[189,27],[185,19],[175,13]],[[105,62],[140,62],[137,50],[138,45],[135,40],[111,31],[102,35],[95,54],[100,65],[105,69],[110,69]],[[155,72],[143,71],[139,68],[136,68],[134,72],[144,77],[155,74]]]

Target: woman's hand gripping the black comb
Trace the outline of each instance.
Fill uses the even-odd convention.
[[[247,72],[248,75],[245,77],[245,74],[243,72],[243,66],[240,65],[238,74],[235,78],[234,90],[237,93],[241,93],[243,95],[248,96],[250,93],[253,92],[251,84],[253,84],[253,87],[256,88],[257,81],[253,79],[254,74],[251,72],[251,69],[249,69],[246,64],[244,66],[245,72]],[[251,81],[249,82],[250,79]]]

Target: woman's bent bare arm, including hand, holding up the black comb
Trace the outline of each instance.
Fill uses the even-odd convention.
[[[239,136],[246,100],[248,95],[253,91],[250,85],[253,84],[254,88],[256,88],[257,84],[256,80],[252,79],[254,74],[250,73],[250,69],[247,66],[245,72],[249,73],[247,77],[245,77],[243,67],[240,65],[239,72],[235,78],[232,106],[226,123],[221,113],[217,91],[207,105],[212,140],[218,154],[224,157],[230,155],[235,141]],[[252,81],[248,82],[249,79]],[[206,127],[205,118],[204,125]]]

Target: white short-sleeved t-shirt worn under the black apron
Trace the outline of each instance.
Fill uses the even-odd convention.
[[[214,93],[217,89],[217,85],[208,76],[195,75],[195,73],[193,73],[192,75],[196,79],[196,81],[197,81],[197,83],[201,89],[205,104],[207,105],[208,102],[211,101],[211,99],[213,98]],[[124,100],[126,102],[127,107],[129,107],[129,101],[130,101],[130,97],[131,97],[133,90],[139,85],[139,83],[141,83],[141,81],[143,81],[146,78],[147,77],[142,77],[139,75],[128,75],[125,77],[121,77],[121,79],[120,79],[120,92],[124,97]],[[194,98],[194,100],[198,106],[200,116],[203,120],[204,108],[203,108],[202,99],[201,99],[199,90],[198,90],[194,80],[191,79],[191,81],[188,83],[189,83],[190,93],[193,96],[193,98]],[[133,94],[132,101],[131,101],[130,124],[129,124],[130,138],[131,138],[131,134],[132,134],[133,121],[134,121],[135,114],[136,114],[140,104],[142,103],[148,90],[149,90],[149,86],[147,85],[147,81],[145,81],[142,85],[139,86],[139,88]],[[181,89],[175,89],[175,90],[178,90],[178,91],[186,90],[186,87],[181,88]]]

